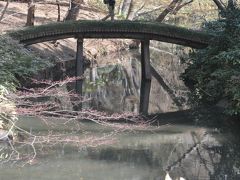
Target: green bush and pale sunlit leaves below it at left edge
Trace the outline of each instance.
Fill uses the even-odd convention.
[[[50,65],[11,38],[0,36],[0,129],[13,132],[17,120],[14,102],[7,97],[19,85],[16,77],[29,77]]]

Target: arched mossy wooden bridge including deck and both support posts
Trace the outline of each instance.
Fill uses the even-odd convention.
[[[83,39],[84,38],[121,38],[141,41],[142,83],[140,95],[140,112],[147,114],[151,87],[151,65],[149,41],[157,40],[192,48],[205,48],[213,35],[206,32],[189,30],[182,27],[157,22],[142,21],[66,21],[10,32],[10,36],[20,43],[31,45],[46,41],[76,38],[76,76],[82,76]],[[76,83],[76,91],[82,94],[82,80]]]

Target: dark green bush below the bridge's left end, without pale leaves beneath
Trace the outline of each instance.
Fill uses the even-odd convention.
[[[50,65],[11,38],[0,36],[0,85],[13,90],[18,85],[16,77],[31,76]]]

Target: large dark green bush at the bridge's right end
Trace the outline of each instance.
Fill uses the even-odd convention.
[[[205,25],[218,36],[208,48],[190,53],[183,78],[197,102],[221,102],[226,113],[240,116],[240,10],[231,9],[222,16]]]

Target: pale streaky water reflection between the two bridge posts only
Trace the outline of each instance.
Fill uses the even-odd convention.
[[[86,106],[111,112],[137,113],[141,78],[139,61],[128,53],[125,56],[104,58],[105,62],[109,60],[107,58],[121,58],[122,63],[89,69],[89,76],[85,81],[85,98],[92,98],[92,101]]]

